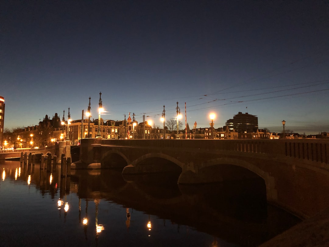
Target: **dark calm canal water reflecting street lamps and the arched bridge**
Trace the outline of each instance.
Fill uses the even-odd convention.
[[[0,163],[0,246],[258,246],[300,220],[262,181],[177,185],[177,174]]]

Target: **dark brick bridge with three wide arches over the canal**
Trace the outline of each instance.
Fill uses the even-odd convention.
[[[261,178],[267,201],[308,218],[329,205],[328,140],[81,140],[76,168],[178,172],[179,184]],[[255,193],[258,193],[255,191]]]

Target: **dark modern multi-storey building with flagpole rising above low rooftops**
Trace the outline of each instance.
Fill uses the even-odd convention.
[[[256,133],[258,130],[258,117],[248,114],[247,112],[245,114],[239,112],[238,114],[234,115],[233,119],[226,121],[226,126],[228,126],[230,130],[235,129],[238,133]]]

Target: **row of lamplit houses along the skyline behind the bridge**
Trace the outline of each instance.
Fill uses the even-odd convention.
[[[130,121],[129,121],[130,122]],[[95,138],[101,136],[104,139],[296,139],[296,138],[329,138],[329,133],[320,135],[303,136],[298,133],[272,133],[264,129],[256,131],[240,131],[232,129],[229,125],[221,128],[193,128],[187,124],[186,130],[169,131],[165,126],[152,128],[147,121],[138,123],[133,119],[128,121],[113,121],[98,119],[89,122],[88,119],[67,122],[58,117],[58,114],[50,119],[46,115],[38,125],[17,129],[11,136],[7,136],[8,147],[31,148],[45,147],[54,142],[70,140],[71,145],[77,145],[81,138]]]

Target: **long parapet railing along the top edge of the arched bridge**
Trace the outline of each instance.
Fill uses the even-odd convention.
[[[329,140],[319,139],[250,139],[250,140],[162,140],[162,139],[103,139],[102,145],[138,147],[138,148],[171,148],[205,151],[236,151],[263,153],[268,156],[287,156],[297,159],[312,160],[321,163],[329,162]]]

